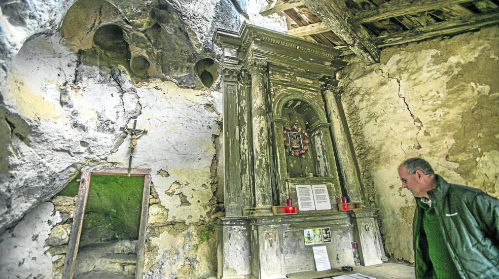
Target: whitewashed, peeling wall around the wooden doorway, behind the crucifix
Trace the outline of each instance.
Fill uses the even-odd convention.
[[[3,221],[57,193],[82,165],[127,167],[129,138],[124,140],[119,128],[130,125],[133,117],[138,128],[149,131],[138,140],[133,167],[151,168],[154,188],[146,277],[197,277],[215,272],[216,238],[211,245],[194,247],[203,226],[220,216],[213,195],[218,186],[215,145],[221,129],[221,93],[182,89],[160,80],[134,85],[119,69],[106,73],[78,64],[77,57],[59,41],[57,35],[28,41],[9,71],[4,102],[24,116],[29,129],[18,133],[20,125],[9,120],[9,115],[4,118],[12,145],[7,157],[11,177],[2,184],[6,191],[2,197],[9,202],[3,209],[10,214],[4,212]],[[30,187],[19,187],[25,184]],[[27,236],[12,231],[2,234],[5,261],[0,270],[7,278],[37,277],[35,271],[52,274],[47,265],[51,256],[43,253],[47,244],[28,237],[51,232],[52,227],[44,224],[54,213],[40,212],[39,207],[33,212],[40,219],[23,219],[13,228],[14,232],[26,229]],[[23,222],[33,225],[26,227]],[[12,243],[21,237],[26,249],[41,251],[39,260],[8,252],[20,249]],[[23,268],[11,268],[14,263]],[[54,262],[54,270],[60,268],[58,263]]]

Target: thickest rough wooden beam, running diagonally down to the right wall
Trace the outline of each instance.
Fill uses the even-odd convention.
[[[302,0],[366,64],[379,62],[379,49],[366,30],[355,23],[343,1]]]

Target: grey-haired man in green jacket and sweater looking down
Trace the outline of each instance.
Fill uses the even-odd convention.
[[[447,183],[420,158],[398,170],[416,198],[416,278],[499,278],[499,200]]]

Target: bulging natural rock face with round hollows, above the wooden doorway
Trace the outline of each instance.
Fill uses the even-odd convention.
[[[248,20],[273,29],[285,28],[282,19],[262,18],[255,14],[256,9],[252,7],[261,7],[264,0],[196,3],[158,0],[147,5],[141,1],[94,3],[97,2],[100,9],[82,14],[78,9],[73,9],[75,13],[69,10],[88,4],[88,1],[0,4],[0,116],[5,119],[0,121],[0,128],[8,131],[0,133],[0,232],[62,189],[82,165],[92,161],[96,164],[105,159],[122,142],[119,127],[140,113],[136,90],[127,78],[133,74],[133,67],[129,71],[130,68],[120,64],[105,65],[113,68],[110,78],[88,67],[95,63],[87,63],[82,52],[78,51],[92,48],[97,28],[105,24],[123,24],[120,25],[123,39],[131,55],[147,56],[151,51],[161,54],[159,58],[150,57],[151,63],[157,60],[175,62],[167,66],[154,64],[155,71],[142,76],[142,81],[159,77],[195,88],[202,88],[198,77],[193,74],[195,58],[212,57],[216,60],[220,55],[211,44],[216,26],[237,30],[242,20]],[[61,42],[61,38],[53,35],[62,27],[64,15],[69,15],[68,22],[73,23],[65,29],[66,35],[68,29],[74,31],[73,35],[86,35],[78,38],[81,39],[80,45],[75,44],[71,36],[66,36]],[[177,21],[169,22],[170,18]],[[85,21],[90,21],[88,25],[93,27],[87,28]],[[148,33],[151,28],[158,32],[157,37]],[[152,37],[147,37],[149,35]],[[27,44],[31,46],[24,47],[24,54],[17,57],[28,38],[31,39]],[[69,45],[74,53],[68,52],[63,44]],[[174,47],[165,51],[168,44]],[[112,55],[108,55],[111,60]],[[130,61],[135,61],[134,57],[131,58]],[[14,59],[19,61],[11,66]],[[190,66],[182,65],[182,61]],[[98,66],[102,66],[100,62],[97,60]],[[87,85],[87,82],[92,84]],[[68,99],[66,91],[77,90],[73,88],[79,86],[77,83],[83,85],[81,96],[76,97],[77,100]],[[111,96],[104,98],[100,92],[106,91],[111,92]],[[118,107],[124,109],[117,111]],[[93,121],[97,121],[97,125],[93,125]]]

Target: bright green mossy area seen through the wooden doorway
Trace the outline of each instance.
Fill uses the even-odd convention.
[[[92,175],[80,246],[137,239],[144,177]]]

